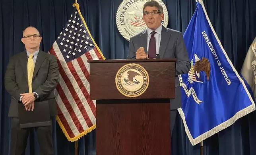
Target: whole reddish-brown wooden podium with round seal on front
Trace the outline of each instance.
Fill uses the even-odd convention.
[[[170,99],[175,98],[175,61],[88,60],[90,98],[97,100],[97,155],[171,155]],[[125,65],[128,66],[124,68]],[[142,66],[145,74],[140,74],[136,65]],[[127,70],[138,72],[137,79],[128,81],[124,76]],[[142,82],[140,90],[145,90],[148,83],[143,94],[128,97],[120,93],[123,86],[132,85],[134,89]]]

